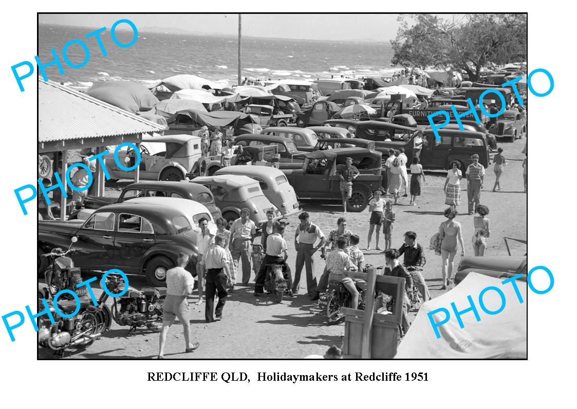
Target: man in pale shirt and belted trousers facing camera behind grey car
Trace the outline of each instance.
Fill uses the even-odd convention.
[[[250,253],[252,252],[252,240],[256,236],[256,226],[249,219],[250,211],[247,208],[241,210],[241,217],[234,220],[230,227],[230,249],[233,254],[234,267],[238,271],[238,260],[242,261],[242,285],[248,286],[250,281]]]

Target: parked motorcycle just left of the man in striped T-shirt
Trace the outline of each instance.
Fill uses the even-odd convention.
[[[100,280],[100,287],[103,288],[102,280]],[[107,275],[106,288],[112,294],[121,294],[124,290],[122,276]],[[113,297],[112,309],[109,309],[106,305],[108,297],[110,296],[106,291],[103,291],[98,299],[98,307],[96,307],[99,322],[103,325],[103,328],[101,328],[102,332],[110,328],[110,317],[118,325],[128,325],[130,327],[128,330],[129,335],[130,333],[136,335],[136,328],[138,327],[147,327],[155,332],[159,332],[162,328],[164,296],[160,297],[160,293],[156,288],[144,287],[142,290],[137,290],[129,286],[128,291],[121,297]]]

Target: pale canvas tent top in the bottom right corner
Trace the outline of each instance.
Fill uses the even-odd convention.
[[[424,303],[407,335],[399,345],[395,359],[475,359],[475,358],[527,358],[527,283],[516,281],[523,303],[515,294],[512,284],[501,284],[502,280],[469,273],[451,291]],[[505,307],[496,314],[486,314],[479,306],[479,293],[486,287],[498,287],[505,295]],[[460,328],[451,308],[454,302],[458,310],[470,306],[467,295],[473,299],[481,321],[473,312],[461,316],[464,328]],[[496,311],[501,298],[491,290],[483,297],[486,309]],[[427,313],[439,308],[451,312],[449,321],[438,327],[441,337],[437,338]],[[444,313],[434,314],[442,320]]]

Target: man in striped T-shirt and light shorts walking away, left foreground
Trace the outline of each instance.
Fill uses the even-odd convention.
[[[197,342],[190,343],[190,307],[186,296],[192,294],[194,279],[185,270],[189,258],[188,254],[179,253],[177,267],[171,268],[166,272],[166,298],[162,308],[162,329],[160,330],[158,359],[164,359],[166,336],[176,317],[181,322],[184,331],[185,352],[192,352],[200,345]]]

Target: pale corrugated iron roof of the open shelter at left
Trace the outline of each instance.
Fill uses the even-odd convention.
[[[74,91],[38,80],[38,141],[162,132],[164,127]]]

